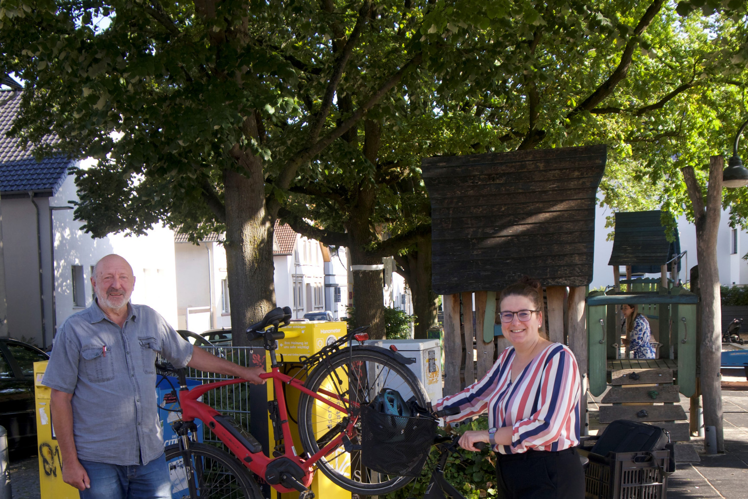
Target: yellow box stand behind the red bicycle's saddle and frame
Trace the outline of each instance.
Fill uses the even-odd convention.
[[[308,357],[309,355],[319,352],[323,346],[337,340],[339,337],[343,336],[343,334],[346,334],[346,327],[346,322],[322,321],[292,322],[291,324],[286,325],[283,328],[283,331],[285,331],[289,337],[283,340],[278,340],[278,349],[275,351],[278,362],[298,362],[298,358],[301,357],[301,355],[306,355]],[[266,362],[269,368],[270,355],[266,355]],[[281,372],[287,373],[289,376],[294,376],[297,371],[287,370],[286,367],[283,366],[281,367]],[[301,381],[304,381],[305,378],[306,376],[303,375],[300,377]],[[268,387],[268,399],[272,400],[275,398],[272,380],[269,380],[266,385]],[[299,394],[301,394],[301,392],[294,388],[286,390],[286,405],[290,416],[289,426],[296,453],[303,452],[301,441],[298,438],[298,426],[293,422],[298,414]],[[316,401],[315,406],[312,409],[312,418],[315,422],[313,426],[315,434],[319,436],[324,435],[328,430],[328,420],[334,424],[342,417],[343,414],[340,414],[340,411],[335,411],[328,405]],[[273,434],[273,425],[270,420],[268,421],[268,428],[270,432],[270,446],[273,447],[275,445],[275,435]],[[349,462],[349,455],[347,453],[343,453],[336,459],[335,468],[350,476],[351,463]],[[314,492],[314,497],[317,499],[351,499],[351,492],[332,483],[330,479],[325,477],[325,475],[319,470],[314,474],[311,489],[312,492]],[[298,492],[287,492],[280,496],[281,499],[297,499]]]

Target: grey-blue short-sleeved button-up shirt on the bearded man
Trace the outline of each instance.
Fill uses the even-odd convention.
[[[61,325],[42,384],[73,394],[79,459],[138,465],[164,452],[156,352],[184,367],[192,345],[145,305],[130,304],[122,328],[96,302]]]

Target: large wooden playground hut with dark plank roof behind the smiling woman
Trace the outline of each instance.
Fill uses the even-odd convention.
[[[423,159],[432,287],[444,296],[445,395],[485,374],[508,346],[497,294],[523,275],[541,281],[545,334],[568,344],[586,387],[586,287],[606,159],[602,145]]]

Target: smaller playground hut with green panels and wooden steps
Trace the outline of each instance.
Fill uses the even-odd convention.
[[[609,261],[613,287],[587,297],[589,392],[598,397],[611,385],[600,401],[601,424],[616,419],[653,423],[668,429],[673,441],[687,441],[700,426],[698,296],[680,286],[678,272],[684,253],[680,252],[672,218],[667,225],[675,228],[673,240],[667,240],[661,222],[669,217],[659,210],[616,213]],[[625,266],[625,279],[621,279],[621,266]],[[659,278],[633,278],[635,274],[657,272]],[[622,304],[637,304],[649,320],[653,338],[660,346],[657,358],[620,358]],[[679,393],[690,397],[690,425],[685,422],[689,418],[684,410],[676,405]]]

